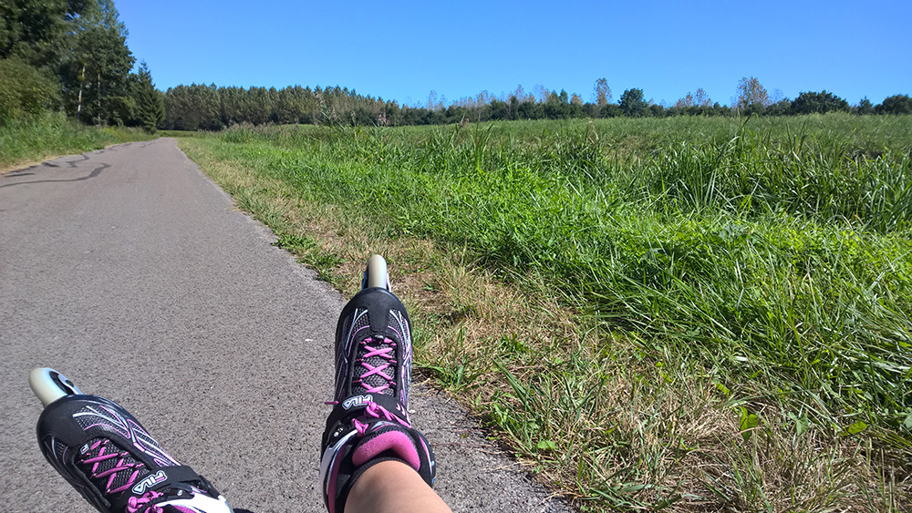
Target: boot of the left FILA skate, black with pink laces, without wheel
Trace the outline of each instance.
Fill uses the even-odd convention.
[[[38,418],[47,461],[102,513],[232,513],[204,477],[168,455],[117,403],[64,395]]]

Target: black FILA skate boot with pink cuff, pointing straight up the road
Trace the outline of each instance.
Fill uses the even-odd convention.
[[[342,513],[355,481],[381,461],[409,465],[430,486],[436,473],[430,443],[409,420],[409,316],[386,286],[369,286],[369,272],[368,264],[367,288],[342,309],[336,329],[335,401],[320,462],[329,513]]]

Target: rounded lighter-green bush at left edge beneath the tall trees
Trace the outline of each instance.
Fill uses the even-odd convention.
[[[0,59],[0,125],[35,116],[60,101],[54,77],[13,57]]]

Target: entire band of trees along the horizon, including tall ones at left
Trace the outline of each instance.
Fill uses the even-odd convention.
[[[482,91],[447,101],[400,105],[347,87],[225,87],[191,84],[158,90],[150,68],[127,46],[127,27],[113,0],[12,0],[0,5],[0,126],[45,112],[95,126],[220,130],[233,125],[443,125],[521,119],[665,118],[672,116],[795,116],[833,111],[856,115],[912,114],[907,94],[878,105],[850,105],[823,91],[793,99],[769,91],[757,77],[741,77],[730,104],[698,88],[674,104],[628,88],[614,101],[605,77],[590,101],[578,93],[522,86],[511,93]]]

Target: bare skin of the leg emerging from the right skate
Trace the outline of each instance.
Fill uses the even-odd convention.
[[[399,461],[382,461],[348,492],[346,513],[451,513],[418,472]]]

